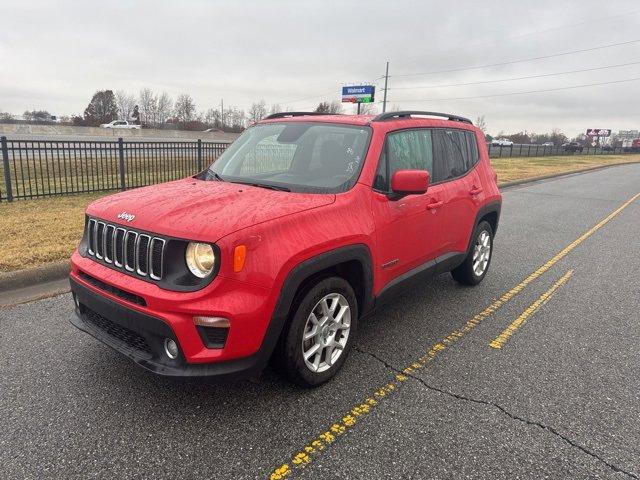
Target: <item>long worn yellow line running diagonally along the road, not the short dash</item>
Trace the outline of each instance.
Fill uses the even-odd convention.
[[[471,320],[468,320],[467,323],[458,330],[453,330],[451,333],[446,335],[442,341],[437,342],[418,360],[411,363],[411,365],[404,368],[403,372],[405,374],[409,374],[421,368],[424,368],[429,362],[433,361],[434,358],[438,356],[440,352],[445,350],[448,345],[451,345],[464,335],[472,331],[476,326],[480,324],[483,320],[493,315],[495,311],[497,311],[500,307],[502,307],[505,303],[515,297],[518,293],[520,293],[527,285],[529,285],[534,280],[538,279],[542,274],[547,272],[551,267],[553,267],[556,263],[566,257],[574,248],[584,242],[587,238],[593,235],[595,232],[604,227],[607,223],[611,221],[616,215],[618,215],[622,210],[628,207],[632,202],[634,202],[637,198],[640,198],[640,193],[637,193],[625,203],[623,203],[620,207],[616,208],[613,212],[607,215],[604,219],[598,222],[595,226],[587,230],[585,233],[576,238],[569,245],[560,250],[556,255],[554,255],[549,261],[547,261],[544,265],[539,267],[536,271],[534,271],[531,275],[525,278],[518,285],[513,287],[508,292],[505,292],[500,298],[495,300],[491,305],[486,307],[480,313],[475,315]],[[291,458],[289,463],[284,463],[281,466],[275,468],[270,474],[270,480],[281,480],[283,478],[290,477],[294,470],[299,468],[304,468],[306,465],[313,461],[313,458],[317,457],[320,452],[329,447],[329,445],[333,444],[336,439],[346,433],[348,433],[356,422],[360,419],[360,417],[368,415],[375,406],[379,404],[382,399],[389,398],[390,395],[395,393],[398,390],[398,387],[402,385],[402,383],[407,379],[405,375],[398,374],[395,379],[391,382],[387,383],[383,387],[380,387],[372,392],[367,398],[365,398],[359,405],[353,407],[346,415],[344,415],[341,419],[337,420],[333,423],[329,428],[327,428],[324,432],[320,433],[318,436],[314,437],[310,440],[307,445],[305,445],[299,452],[295,453]]]

